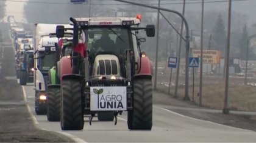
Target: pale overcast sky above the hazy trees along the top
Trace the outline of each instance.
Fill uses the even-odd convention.
[[[27,1],[27,0],[23,0]],[[45,1],[45,0],[37,0],[37,1]],[[54,0],[51,0],[52,2]],[[108,0],[94,0],[94,1],[104,1],[107,2]],[[145,0],[138,0],[139,2],[143,2]],[[205,0],[205,2],[212,2],[212,1],[223,1],[223,0]],[[225,0],[224,0],[225,1]],[[108,1],[109,4],[121,4],[119,2],[115,1]],[[158,1],[155,0],[154,3],[157,3]],[[174,10],[177,10],[179,12],[182,12],[182,4],[173,4],[173,3],[182,3],[183,0],[162,0],[162,3],[168,3],[162,4],[162,7],[165,8],[171,8]],[[201,11],[201,4],[189,4],[190,2],[201,2],[201,0],[187,0],[186,10],[191,11]],[[24,2],[14,2],[7,0],[6,2],[6,13],[5,15],[14,15],[16,21],[18,22],[24,22],[24,16],[23,16],[23,5]],[[113,7],[113,5],[111,5]],[[116,5],[116,7],[121,7],[121,5]],[[205,11],[209,10],[220,10],[227,12],[228,8],[228,2],[214,2],[214,3],[205,3]],[[233,1],[232,2],[232,11],[242,13],[244,15],[249,16],[249,25],[256,23],[256,0],[247,0],[247,1]],[[5,18],[6,20],[6,18]]]

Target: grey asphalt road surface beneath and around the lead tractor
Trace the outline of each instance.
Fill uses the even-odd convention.
[[[24,86],[27,103],[34,109],[33,86]],[[157,96],[157,95],[154,95]],[[199,119],[189,118],[175,112],[154,105],[152,131],[129,131],[127,129],[127,115],[124,113],[114,122],[93,121],[89,125],[85,117],[82,131],[62,131],[59,122],[48,122],[46,116],[35,115],[37,127],[51,131],[60,131],[72,135],[73,138],[85,142],[254,142],[256,132],[229,127]],[[82,140],[81,140],[82,139]]]

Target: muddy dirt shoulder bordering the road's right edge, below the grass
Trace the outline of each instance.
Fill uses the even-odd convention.
[[[229,125],[232,127],[244,128],[256,131],[256,115],[232,114],[224,115],[222,110],[212,110],[209,107],[199,107],[197,103],[183,101],[182,96],[174,98],[171,95],[163,93],[163,90],[155,90],[153,102],[164,108],[175,111],[185,116],[196,119],[216,122],[218,124]]]

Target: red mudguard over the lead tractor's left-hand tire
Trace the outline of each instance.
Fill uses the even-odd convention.
[[[72,74],[71,59],[63,56],[60,59],[60,80],[62,81],[64,75]]]

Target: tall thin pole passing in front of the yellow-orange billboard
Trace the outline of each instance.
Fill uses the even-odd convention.
[[[204,0],[202,0],[202,14],[201,14],[201,53],[200,53],[200,79],[199,79],[199,106],[202,106],[202,69],[203,69],[203,42],[204,42]]]

